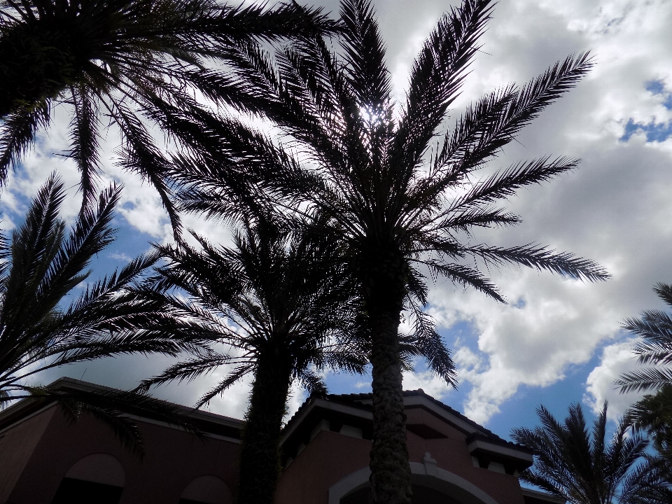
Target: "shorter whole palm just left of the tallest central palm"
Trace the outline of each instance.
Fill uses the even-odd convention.
[[[167,260],[158,287],[183,319],[200,324],[213,347],[169,367],[154,384],[192,380],[228,369],[196,407],[253,375],[243,431],[237,502],[272,503],[280,470],[279,440],[288,393],[298,381],[324,393],[318,371],[363,372],[365,350],[357,345],[352,289],[334,261],[335,241],[305,230],[290,231],[266,218],[246,221],[234,246],[161,246]]]

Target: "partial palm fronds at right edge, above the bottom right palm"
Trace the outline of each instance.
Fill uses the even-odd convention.
[[[653,290],[672,307],[672,285],[657,283]],[[640,364],[654,367],[623,374],[615,381],[621,392],[660,390],[672,384],[672,317],[661,310],[647,310],[641,318],[627,318],[623,328],[640,337],[633,351]]]

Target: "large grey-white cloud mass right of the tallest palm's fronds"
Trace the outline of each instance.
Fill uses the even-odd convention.
[[[510,305],[449,285],[434,288],[433,311],[448,322],[444,326],[466,320],[477,332],[475,358],[461,369],[461,383],[471,386],[465,413],[476,421],[491,419],[523,384],[563,379],[570,365],[587,363],[605,344],[605,360],[588,386],[589,397],[606,397],[598,377],[607,380],[615,349],[619,358],[628,353],[612,343],[619,321],[656,304],[650,286],[671,278],[665,272],[672,141],[623,138],[629,121],[672,117],[666,95],[650,85],[656,80],[666,90],[672,83],[671,15],[672,6],[660,1],[519,0],[495,10],[483,48],[491,56],[479,55],[461,102],[493,85],[524,81],[569,52],[593,48],[597,64],[484,172],[544,153],[582,157],[580,167],[512,198],[509,208],[524,220],[518,228],[480,232],[473,241],[550,244],[598,260],[612,279],[591,285],[518,268],[491,272]],[[614,412],[631,400],[619,399],[612,399]]]

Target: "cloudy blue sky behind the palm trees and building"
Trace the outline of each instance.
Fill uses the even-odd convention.
[[[337,13],[336,1],[315,2]],[[444,11],[443,0],[377,0],[394,93],[402,102],[407,76],[424,38]],[[481,177],[519,160],[542,155],[581,158],[575,171],[520,190],[507,209],[521,216],[516,228],[484,230],[475,241],[512,246],[549,245],[596,260],[612,275],[582,283],[531,269],[493,269],[491,278],[509,301],[499,304],[461,286],[432,284],[427,309],[458,366],[452,390],[418,363],[405,388],[423,388],[495,433],[534,426],[543,404],[563,418],[580,402],[595,414],[609,401],[615,420],[638,399],[621,395],[613,381],[637,367],[633,337],[620,327],[644,309],[664,309],[652,291],[672,283],[672,2],[668,0],[500,0],[481,39],[463,92],[451,107],[458,116],[478,97],[508,83],[523,84],[572,52],[591,50],[594,69],[559,102],[526,127]],[[29,197],[52,170],[71,197],[64,216],[73,218],[80,195],[78,172],[57,154],[68,148],[69,111],[55,111],[0,197],[4,230],[20,223]],[[103,145],[105,181],[125,184],[115,225],[118,239],[102,253],[92,278],[120,267],[170,239],[169,223],[151,187],[115,166],[119,139],[112,130]],[[229,230],[189,217],[186,224],[211,241]],[[131,356],[50,370],[48,383],[70,376],[120,388],[163,370],[172,360]],[[190,384],[165,386],[155,395],[190,405],[220,379],[215,373]],[[370,391],[370,377],[328,374],[333,393]],[[207,407],[241,418],[249,381]],[[305,398],[293,388],[290,412]]]

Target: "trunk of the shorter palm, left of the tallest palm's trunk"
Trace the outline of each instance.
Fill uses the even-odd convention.
[[[290,367],[280,356],[259,360],[242,434],[238,504],[273,503],[290,378]]]

